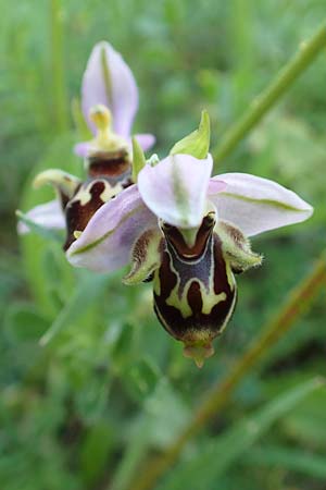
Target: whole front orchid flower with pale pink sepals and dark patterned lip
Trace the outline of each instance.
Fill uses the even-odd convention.
[[[73,266],[97,272],[131,262],[126,284],[153,280],[159,321],[198,366],[231,317],[235,274],[262,262],[249,237],[313,212],[276,182],[246,173],[211,177],[209,133],[203,113],[199,130],[159,162],[146,162],[135,140],[135,183],[103,204],[82,233],[78,225],[71,230],[66,250]],[[89,203],[75,200],[85,212]]]

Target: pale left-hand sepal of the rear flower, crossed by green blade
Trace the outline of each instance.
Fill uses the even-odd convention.
[[[38,205],[30,209],[26,217],[43,228],[65,229],[65,219],[60,203],[50,200],[49,203]],[[17,231],[20,234],[29,233],[29,228],[22,221],[18,222]]]

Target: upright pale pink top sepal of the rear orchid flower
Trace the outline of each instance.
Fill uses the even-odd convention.
[[[106,72],[103,60],[106,61]],[[129,66],[105,41],[93,47],[82,84],[82,108],[93,134],[96,127],[89,119],[89,111],[98,103],[111,110],[114,132],[128,137],[138,109],[138,88]]]

